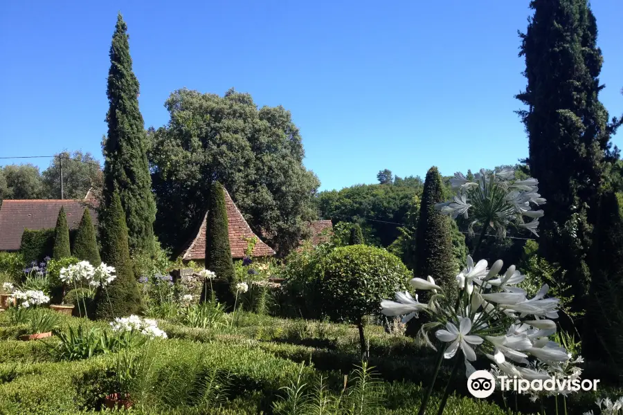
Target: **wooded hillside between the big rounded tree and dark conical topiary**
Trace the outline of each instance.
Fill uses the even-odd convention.
[[[368,243],[389,246],[400,234],[398,228],[406,221],[413,196],[420,194],[422,180],[408,177],[400,178],[399,184],[354,185],[320,192],[316,204],[324,219],[361,222]]]

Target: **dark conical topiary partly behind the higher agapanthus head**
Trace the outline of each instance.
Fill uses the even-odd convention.
[[[426,173],[419,221],[415,231],[415,276],[426,279],[447,290],[455,287],[455,259],[450,219],[435,209],[444,201],[444,185],[437,167]]]

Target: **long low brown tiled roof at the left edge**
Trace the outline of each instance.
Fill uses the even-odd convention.
[[[93,225],[98,224],[96,202],[84,200],[8,200],[0,207],[0,251],[19,250],[24,229],[40,230],[54,228],[61,206],[67,215],[70,229],[78,228],[84,208],[89,207]]]

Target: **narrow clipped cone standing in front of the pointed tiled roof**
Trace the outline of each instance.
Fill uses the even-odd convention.
[[[219,182],[212,185],[206,223],[206,269],[217,278],[235,281],[235,271],[229,245],[229,223],[225,206],[225,192]]]

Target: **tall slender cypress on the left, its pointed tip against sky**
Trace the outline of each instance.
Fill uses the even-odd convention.
[[[143,116],[138,111],[138,80],[132,72],[126,31],[127,25],[118,15],[110,47],[108,136],[102,146],[105,156],[102,208],[111,205],[111,195],[118,190],[130,249],[153,252],[156,204],[147,164]]]

